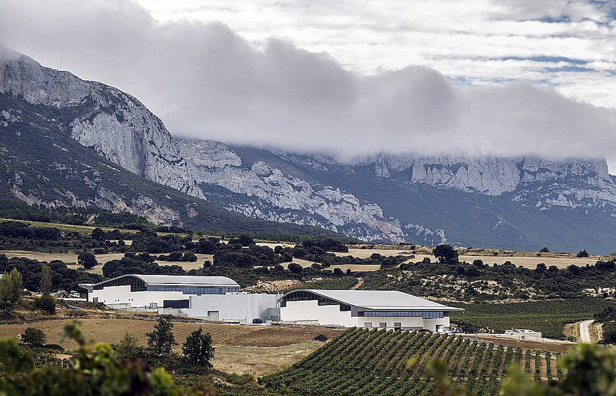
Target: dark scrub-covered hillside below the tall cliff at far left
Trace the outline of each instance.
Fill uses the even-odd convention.
[[[253,220],[144,179],[70,136],[68,120],[90,104],[32,105],[0,94],[0,199],[47,207],[128,211],[195,230],[333,235],[322,228]]]

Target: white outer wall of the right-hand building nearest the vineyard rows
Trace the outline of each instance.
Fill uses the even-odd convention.
[[[449,326],[449,317],[439,319],[423,319],[422,317],[395,317],[395,316],[367,316],[352,317],[351,311],[340,311],[339,305],[319,306],[317,300],[287,301],[286,306],[280,308],[281,321],[318,321],[320,325],[364,327],[371,323],[373,328],[378,328],[385,323],[387,328],[394,328],[394,323],[400,323],[405,328],[425,328],[435,332],[437,325]]]

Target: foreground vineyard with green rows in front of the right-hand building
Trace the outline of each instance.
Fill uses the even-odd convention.
[[[467,392],[498,393],[512,363],[535,380],[559,380],[558,355],[429,332],[350,329],[292,367],[259,382],[302,395],[431,395],[428,362],[443,360]]]

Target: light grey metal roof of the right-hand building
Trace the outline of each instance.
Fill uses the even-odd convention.
[[[343,304],[373,310],[403,310],[403,311],[450,311],[463,312],[463,308],[455,308],[416,297],[415,295],[394,290],[320,290],[299,289],[325,298],[342,302]],[[289,293],[292,293],[290,291]],[[289,294],[286,293],[285,295]],[[284,298],[284,296],[283,296]]]

